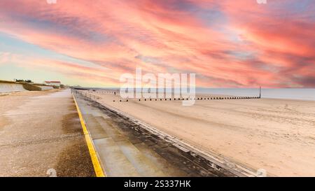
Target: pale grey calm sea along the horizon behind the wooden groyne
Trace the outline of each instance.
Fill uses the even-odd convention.
[[[196,88],[196,92],[200,94],[259,96],[259,88]],[[315,88],[262,88],[261,97],[315,101]]]

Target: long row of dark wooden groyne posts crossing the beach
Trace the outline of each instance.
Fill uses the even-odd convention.
[[[172,99],[172,98],[152,99],[152,98],[150,98],[150,99],[138,99],[138,101],[141,101],[141,100],[142,101],[158,101],[158,100],[160,100],[160,101],[172,101],[172,100],[185,101],[185,100],[211,100],[211,99],[260,99],[260,97],[197,97],[197,98],[195,97],[194,99],[192,99],[192,98],[190,98],[190,99],[188,99],[188,98],[186,98],[186,99],[184,99],[184,98],[177,98],[177,99],[176,98],[174,98],[174,99]],[[113,101],[115,102],[115,100],[113,100]],[[120,99],[119,101],[121,102],[123,100]],[[128,101],[128,99],[126,99],[125,101]]]

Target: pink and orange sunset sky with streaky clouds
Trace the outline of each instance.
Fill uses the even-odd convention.
[[[0,80],[117,87],[136,67],[197,87],[315,87],[315,0],[0,1]]]

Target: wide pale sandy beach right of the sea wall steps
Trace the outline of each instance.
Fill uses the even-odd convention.
[[[315,176],[315,101],[202,100],[182,106],[93,94],[102,97],[100,103],[232,162],[271,176]]]

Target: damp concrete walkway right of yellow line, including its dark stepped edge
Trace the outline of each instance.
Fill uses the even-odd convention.
[[[110,108],[80,95],[77,101],[108,176],[236,176]]]

